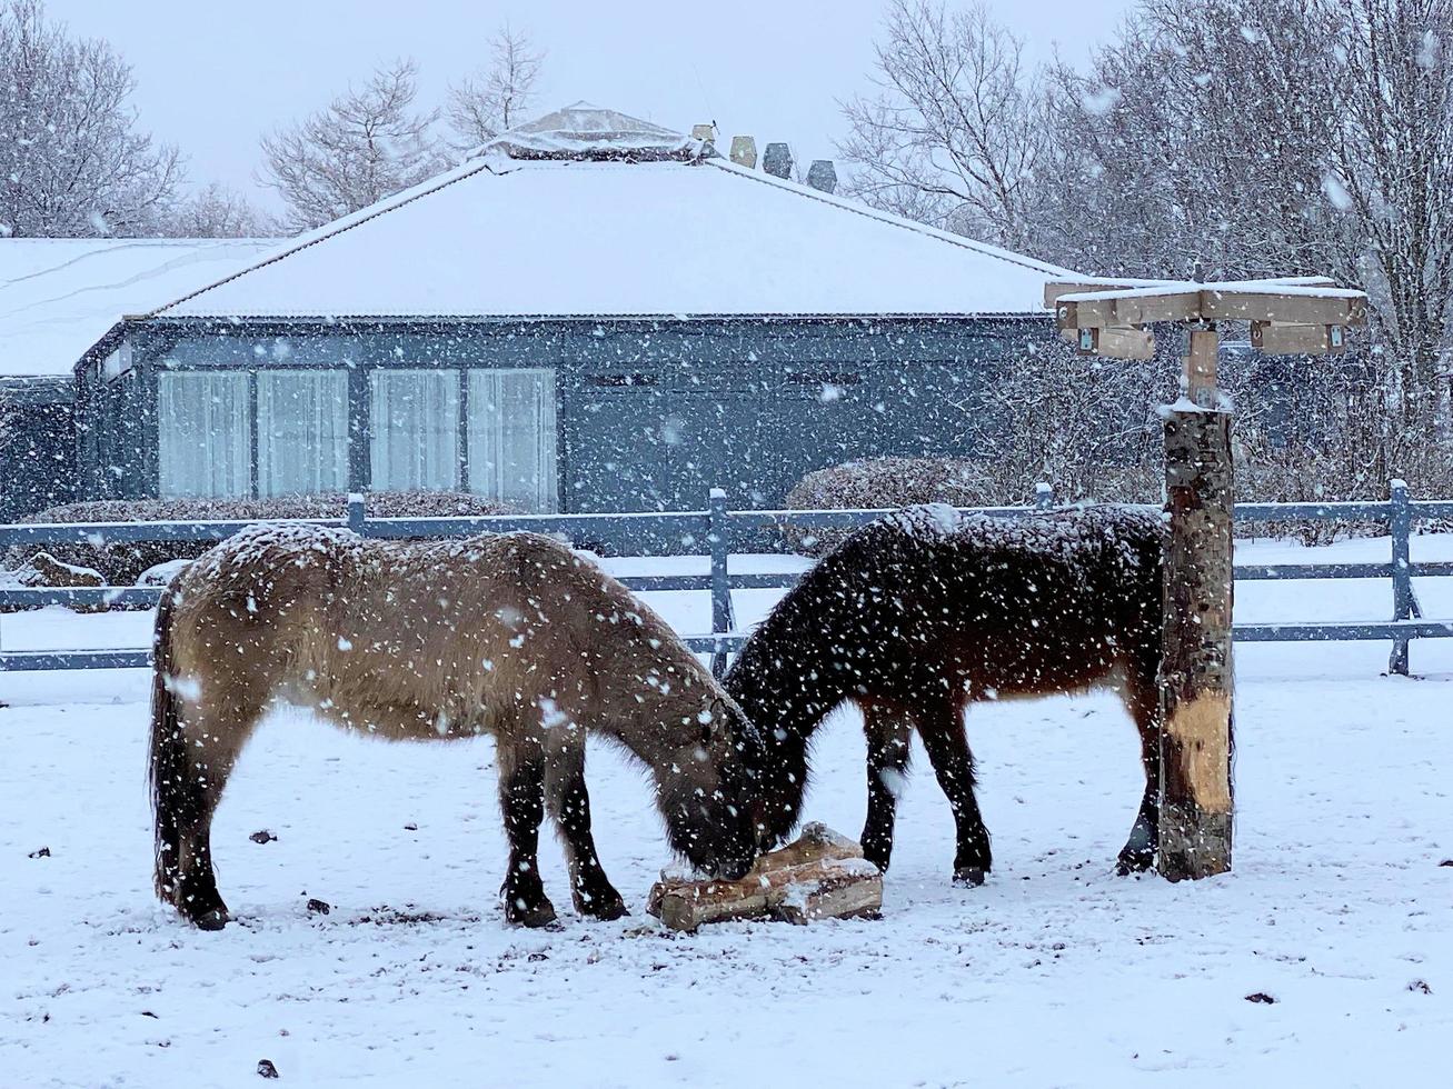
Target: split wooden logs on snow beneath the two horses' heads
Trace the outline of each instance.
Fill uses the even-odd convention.
[[[690,881],[665,873],[651,889],[647,910],[673,931],[726,919],[782,919],[806,923],[876,915],[883,876],[863,848],[830,828],[811,823],[786,847],[764,854],[740,881]]]

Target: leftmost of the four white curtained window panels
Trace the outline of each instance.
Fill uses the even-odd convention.
[[[247,375],[183,372],[158,378],[161,495],[250,495]]]

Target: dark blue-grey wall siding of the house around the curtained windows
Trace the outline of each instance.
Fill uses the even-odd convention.
[[[157,373],[346,367],[355,485],[366,484],[373,367],[552,367],[567,511],[779,504],[805,472],[878,454],[972,454],[995,370],[1048,318],[189,322],[129,325],[134,370],[84,369],[90,495],[157,489]]]

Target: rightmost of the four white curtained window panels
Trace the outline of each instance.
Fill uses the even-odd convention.
[[[469,372],[469,491],[554,511],[555,372]]]

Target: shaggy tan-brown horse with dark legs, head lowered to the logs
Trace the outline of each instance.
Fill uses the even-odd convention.
[[[740,877],[757,854],[756,730],[665,623],[588,560],[533,534],[394,543],[264,524],[183,571],[157,613],[155,887],[203,929],[228,921],[212,813],[279,701],[389,739],[493,735],[510,922],[555,918],[536,861],[545,806],[577,908],[625,913],[590,833],[587,732],[648,767],[670,844],[692,864]]]

